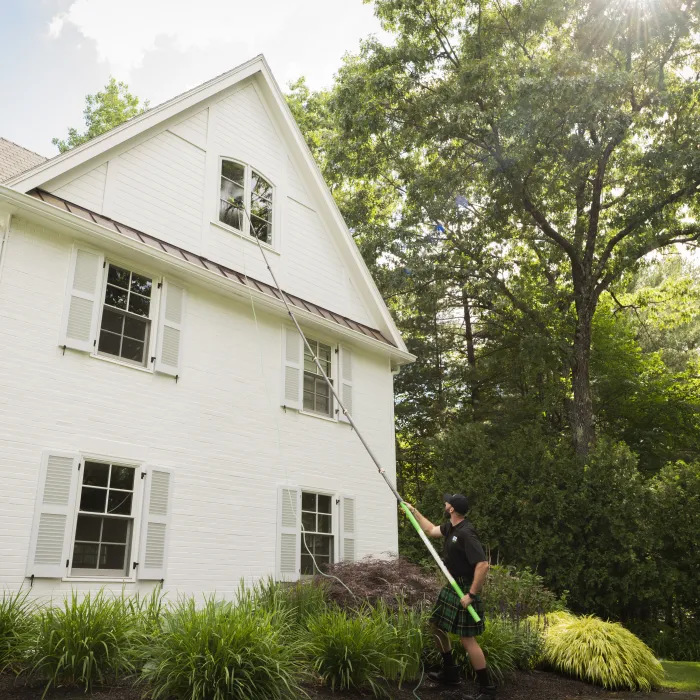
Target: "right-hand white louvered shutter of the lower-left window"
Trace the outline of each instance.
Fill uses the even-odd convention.
[[[173,479],[173,472],[162,467],[152,467],[146,474],[137,568],[140,579],[164,579],[168,569]]]

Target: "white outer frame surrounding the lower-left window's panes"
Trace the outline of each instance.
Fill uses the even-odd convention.
[[[79,471],[79,476],[77,479],[77,484],[76,484],[76,494],[75,494],[75,512],[73,513],[73,518],[71,522],[71,530],[70,530],[70,552],[69,552],[69,562],[70,566],[68,567],[68,573],[66,576],[63,577],[63,581],[97,581],[97,582],[102,582],[102,583],[110,583],[110,582],[120,582],[120,583],[135,583],[137,580],[137,570],[133,566],[134,561],[138,561],[138,556],[139,556],[139,544],[141,542],[141,517],[142,517],[142,509],[143,509],[143,499],[145,496],[145,490],[144,490],[144,475],[146,474],[146,471],[144,469],[144,463],[143,462],[134,462],[132,460],[124,460],[124,459],[119,459],[115,457],[110,457],[104,454],[94,454],[94,453],[87,453],[87,452],[81,452],[80,454],[80,471]],[[123,576],[116,575],[114,572],[110,572],[109,574],[105,574],[103,576],[100,576],[98,574],[95,575],[90,575],[88,572],[88,569],[80,569],[79,571],[76,571],[75,573],[73,572],[73,557],[75,554],[75,537],[77,533],[77,528],[78,528],[78,516],[81,514],[80,513],[80,495],[82,492],[82,487],[83,487],[83,475],[85,473],[85,463],[86,462],[100,462],[102,464],[110,464],[110,465],[116,465],[119,467],[128,467],[130,469],[134,469],[134,491],[133,491],[133,507],[132,507],[132,512],[131,516],[129,516],[132,521],[133,521],[133,526],[131,528],[131,535],[130,535],[130,541],[127,542],[127,546],[129,548],[129,557],[128,557],[128,567],[127,571],[128,573],[125,573]],[[85,513],[83,513],[85,514]],[[94,514],[97,517],[101,517],[101,515],[104,514],[99,514],[95,513]],[[125,516],[126,517],[126,516]],[[96,570],[97,571],[97,570]]]

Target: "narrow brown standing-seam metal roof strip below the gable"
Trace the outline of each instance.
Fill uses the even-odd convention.
[[[143,231],[138,231],[135,228],[132,228],[131,226],[127,226],[126,224],[118,223],[113,219],[110,219],[106,216],[102,216],[97,212],[90,211],[85,207],[73,204],[73,202],[69,202],[63,199],[62,197],[57,197],[56,195],[46,192],[44,190],[34,189],[30,192],[27,192],[27,194],[34,197],[35,199],[41,200],[42,202],[46,202],[46,204],[50,204],[58,209],[67,211],[70,214],[79,216],[81,219],[91,221],[92,223],[98,224],[99,226],[104,226],[105,228],[108,228],[111,231],[114,231],[115,233],[119,233],[122,236],[125,236],[126,238],[131,238],[133,240],[140,241],[141,243],[145,243],[151,248],[155,248],[156,250],[168,253],[176,258],[183,259],[186,262],[191,263],[192,265],[196,265],[197,267],[208,270],[209,272],[218,274],[221,277],[231,280],[235,284],[239,284],[249,289],[256,289],[257,291],[262,292],[263,294],[267,294],[268,296],[274,297],[275,299],[281,301],[281,297],[279,292],[277,291],[277,288],[268,284],[267,282],[262,282],[258,279],[255,279],[254,277],[251,277],[250,275],[245,275],[242,272],[232,270],[229,267],[225,267],[224,265],[215,263],[211,260],[208,260],[207,258],[202,257],[201,255],[192,253],[189,250],[185,250],[184,248],[180,248],[179,246],[173,245],[172,243],[163,241],[160,238],[151,236],[150,234],[144,233]],[[290,294],[289,292],[285,292],[284,294],[287,297],[287,301],[289,302],[289,304],[293,307],[303,309],[304,311],[308,311],[327,321],[332,321],[333,323],[336,323],[337,325],[342,326],[343,328],[349,328],[352,331],[362,333],[362,335],[365,335],[368,338],[372,338],[373,340],[379,340],[380,342],[386,343],[391,347],[396,347],[394,343],[388,340],[381,333],[381,331],[378,331],[375,328],[370,328],[369,326],[366,326],[362,323],[353,321],[347,316],[343,316],[341,314],[330,311],[329,309],[325,309],[324,307],[319,306],[318,304],[314,304],[313,302],[301,299],[300,297]]]

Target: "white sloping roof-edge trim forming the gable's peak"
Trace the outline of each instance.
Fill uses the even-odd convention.
[[[346,261],[347,269],[362,284],[363,296],[368,302],[371,302],[372,307],[377,312],[378,319],[381,319],[381,332],[399,351],[407,353],[408,351],[401,334],[396,328],[396,324],[374,283],[374,279],[355,245],[352,234],[348,230],[321,171],[318,169],[306,145],[306,141],[292,116],[285,97],[262,55],[256,56],[233,70],[206,83],[202,83],[192,90],[124,122],[71,151],[38,164],[31,170],[10,178],[4,184],[14,190],[26,193],[45,186],[47,183],[56,180],[56,178],[65,175],[73,169],[85,166],[91,161],[96,162],[100,159],[104,161],[111,157],[112,153],[122,150],[125,147],[124,145],[132,139],[137,137],[148,138],[150,135],[159,133],[163,129],[164,122],[177,118],[183,112],[196,109],[205,100],[215,97],[217,94],[228,90],[247,78],[254,78],[257,81],[256,84],[259,86],[271,110],[271,114],[276,118],[277,124],[287,141],[290,153],[298,159],[298,164],[303,168],[304,175],[314,187],[318,195],[319,204],[321,204],[319,213],[323,214],[329,222],[329,233],[338,244],[338,248]]]

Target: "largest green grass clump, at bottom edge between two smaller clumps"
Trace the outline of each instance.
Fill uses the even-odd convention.
[[[181,599],[163,614],[142,671],[153,700],[279,700],[304,695],[289,615],[253,595]]]

